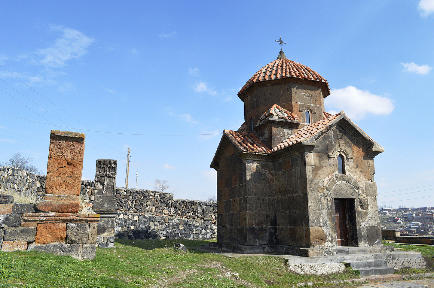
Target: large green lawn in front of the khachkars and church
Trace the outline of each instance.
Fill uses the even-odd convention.
[[[209,243],[176,242],[187,247]],[[179,252],[173,245],[173,240],[116,240],[115,248],[97,248],[94,261],[36,251],[0,252],[0,288],[287,288],[299,282],[358,278],[351,268],[327,276],[294,275],[279,257],[230,258],[192,249]]]

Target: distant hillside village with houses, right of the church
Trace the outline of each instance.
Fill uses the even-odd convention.
[[[432,236],[434,207],[401,207],[378,210],[381,229],[399,229],[401,236]]]

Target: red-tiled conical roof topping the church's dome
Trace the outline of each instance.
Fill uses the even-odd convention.
[[[327,97],[330,94],[330,88],[327,79],[324,79],[321,75],[309,67],[287,59],[283,51],[280,50],[277,59],[263,66],[258,70],[258,72],[253,74],[253,76],[249,79],[249,81],[246,82],[237,95],[240,96],[253,83],[291,77],[322,82],[322,84],[325,84],[326,92],[328,92],[326,95],[324,95],[324,97]]]

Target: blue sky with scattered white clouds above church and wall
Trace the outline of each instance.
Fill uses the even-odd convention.
[[[2,1],[2,10],[0,64],[13,75],[0,67],[1,112],[48,124],[0,115],[0,161],[20,152],[46,171],[51,129],[216,134],[79,130],[83,179],[95,177],[96,159],[117,159],[123,187],[131,147],[128,187],[138,171],[138,188],[168,179],[175,197],[207,199],[220,133],[243,122],[237,92],[276,59],[282,36],[289,59],[329,81],[326,110],[344,110],[385,147],[378,203],[434,206],[434,0]]]

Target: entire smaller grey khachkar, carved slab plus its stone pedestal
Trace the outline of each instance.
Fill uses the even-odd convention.
[[[112,159],[96,160],[95,184],[92,209],[100,213],[98,222],[97,244],[99,247],[114,247],[116,208],[116,167],[118,162]]]

